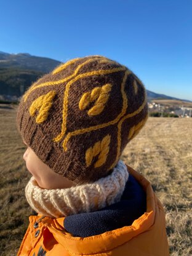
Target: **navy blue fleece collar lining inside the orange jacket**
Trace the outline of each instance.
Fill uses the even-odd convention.
[[[64,220],[64,228],[73,236],[86,238],[106,231],[130,226],[146,212],[146,193],[129,174],[121,201],[96,212],[70,215]]]

